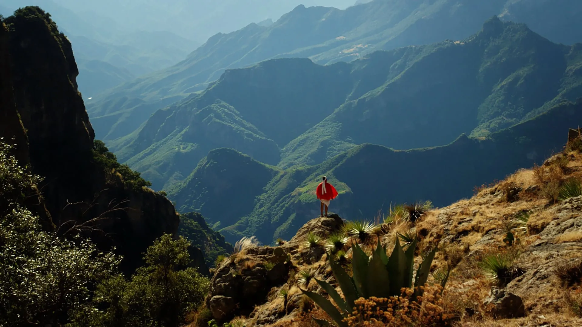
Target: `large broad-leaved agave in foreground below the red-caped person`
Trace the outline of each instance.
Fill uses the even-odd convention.
[[[308,292],[301,289],[303,294],[312,298],[329,317],[331,317],[340,327],[347,327],[343,321],[347,315],[352,312],[356,305],[354,302],[360,298],[370,297],[391,297],[400,296],[400,290],[403,287],[423,286],[427,282],[428,273],[432,260],[434,259],[437,248],[430,251],[424,257],[416,271],[416,277],[413,282],[414,270],[414,250],[416,248],[416,239],[410,244],[405,251],[400,242],[396,239],[396,244],[390,257],[386,255],[386,248],[382,247],[378,241],[376,250],[372,253],[371,259],[357,245],[352,246],[352,271],[353,276],[349,276],[345,269],[338,263],[329,261],[333,276],[342,289],[344,298],[342,298],[335,288],[329,283],[315,278],[315,281],[329,294],[329,296],[338,305],[339,310],[324,296]],[[415,288],[410,300],[415,300],[421,294],[420,288]]]

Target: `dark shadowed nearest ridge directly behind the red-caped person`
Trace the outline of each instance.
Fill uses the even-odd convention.
[[[228,177],[211,175],[203,182],[182,184],[172,191],[171,198],[189,200],[180,207],[200,209],[209,222],[220,221],[220,231],[226,240],[234,242],[242,236],[257,236],[269,244],[272,240],[289,238],[311,216],[319,205],[314,190],[322,175],[328,176],[340,195],[332,201],[331,210],[347,219],[370,218],[378,210],[386,211],[391,203],[431,200],[442,206],[455,199],[470,196],[473,187],[502,179],[516,169],[541,163],[564,143],[563,131],[576,127],[582,119],[582,100],[563,102],[548,112],[509,129],[492,133],[485,139],[462,135],[449,145],[418,150],[392,150],[381,145],[363,144],[343,152],[316,166],[290,168],[276,175],[256,191],[254,209],[231,226],[232,215],[205,213],[198,197],[205,196],[203,185],[232,183]],[[215,165],[229,165],[229,162]],[[217,178],[218,176],[218,178]],[[218,179],[218,180],[217,180]],[[423,187],[418,187],[423,185]],[[199,188],[200,187],[200,188]],[[245,189],[244,182],[231,186]],[[245,194],[245,201],[249,194]],[[231,197],[236,207],[238,197]],[[214,201],[219,202],[219,199]],[[240,215],[240,212],[238,213]]]

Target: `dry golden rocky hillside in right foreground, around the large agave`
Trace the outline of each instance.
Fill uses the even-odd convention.
[[[371,219],[373,229],[337,215],[316,218],[281,242],[283,256],[276,247],[245,240],[217,265],[206,308],[192,326],[208,326],[203,321],[212,318],[219,326],[317,326],[311,318],[327,315],[300,289],[327,296],[313,277],[338,286],[326,253],[333,234],[345,237],[333,260],[347,271],[354,242],[370,254],[378,240],[391,251],[397,235],[406,243],[416,234],[417,264],[438,244],[428,283],[438,285],[450,266],[442,297],[428,294],[420,314],[409,315],[413,321],[397,319],[391,326],[424,326],[435,322],[431,315],[442,318],[438,326],[582,326],[582,138],[570,130],[569,139],[564,152],[544,165],[475,189],[470,199],[417,207],[421,216],[414,223],[410,207]],[[354,227],[361,233],[342,234]],[[374,323],[373,303],[361,305],[350,326],[386,325]]]

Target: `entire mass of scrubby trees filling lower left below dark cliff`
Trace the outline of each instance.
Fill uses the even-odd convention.
[[[208,280],[186,239],[162,236],[127,279],[119,256],[41,228],[23,205],[41,179],[9,151],[0,143],[0,325],[178,326],[201,304]]]

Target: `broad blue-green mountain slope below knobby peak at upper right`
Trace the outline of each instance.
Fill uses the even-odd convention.
[[[407,149],[486,136],[581,97],[580,49],[495,18],[466,40],[408,47],[384,85],[286,145],[280,165],[318,163],[353,144]]]

